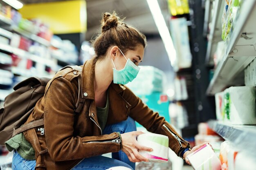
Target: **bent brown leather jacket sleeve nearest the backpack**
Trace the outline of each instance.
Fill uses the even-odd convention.
[[[45,95],[45,139],[50,157],[54,161],[64,161],[118,152],[121,144],[102,143],[119,138],[116,132],[87,137],[73,135],[75,94],[72,83],[58,77],[52,81]]]

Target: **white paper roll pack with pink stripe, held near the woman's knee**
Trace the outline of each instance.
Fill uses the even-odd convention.
[[[139,153],[150,162],[165,163],[168,161],[169,139],[167,136],[155,133],[144,133],[137,137],[139,144],[152,148],[153,151],[139,150]]]

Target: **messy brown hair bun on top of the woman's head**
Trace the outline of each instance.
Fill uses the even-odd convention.
[[[119,23],[119,17],[116,15],[115,11],[111,13],[104,13],[101,20],[101,32],[108,31],[111,28],[115,28]]]

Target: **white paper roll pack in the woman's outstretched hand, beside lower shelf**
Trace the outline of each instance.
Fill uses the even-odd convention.
[[[194,170],[221,170],[220,160],[209,144],[205,144],[187,158]]]

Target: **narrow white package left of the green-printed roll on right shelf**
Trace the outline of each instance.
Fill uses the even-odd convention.
[[[215,94],[215,104],[216,104],[216,118],[217,120],[224,119],[224,92]]]

